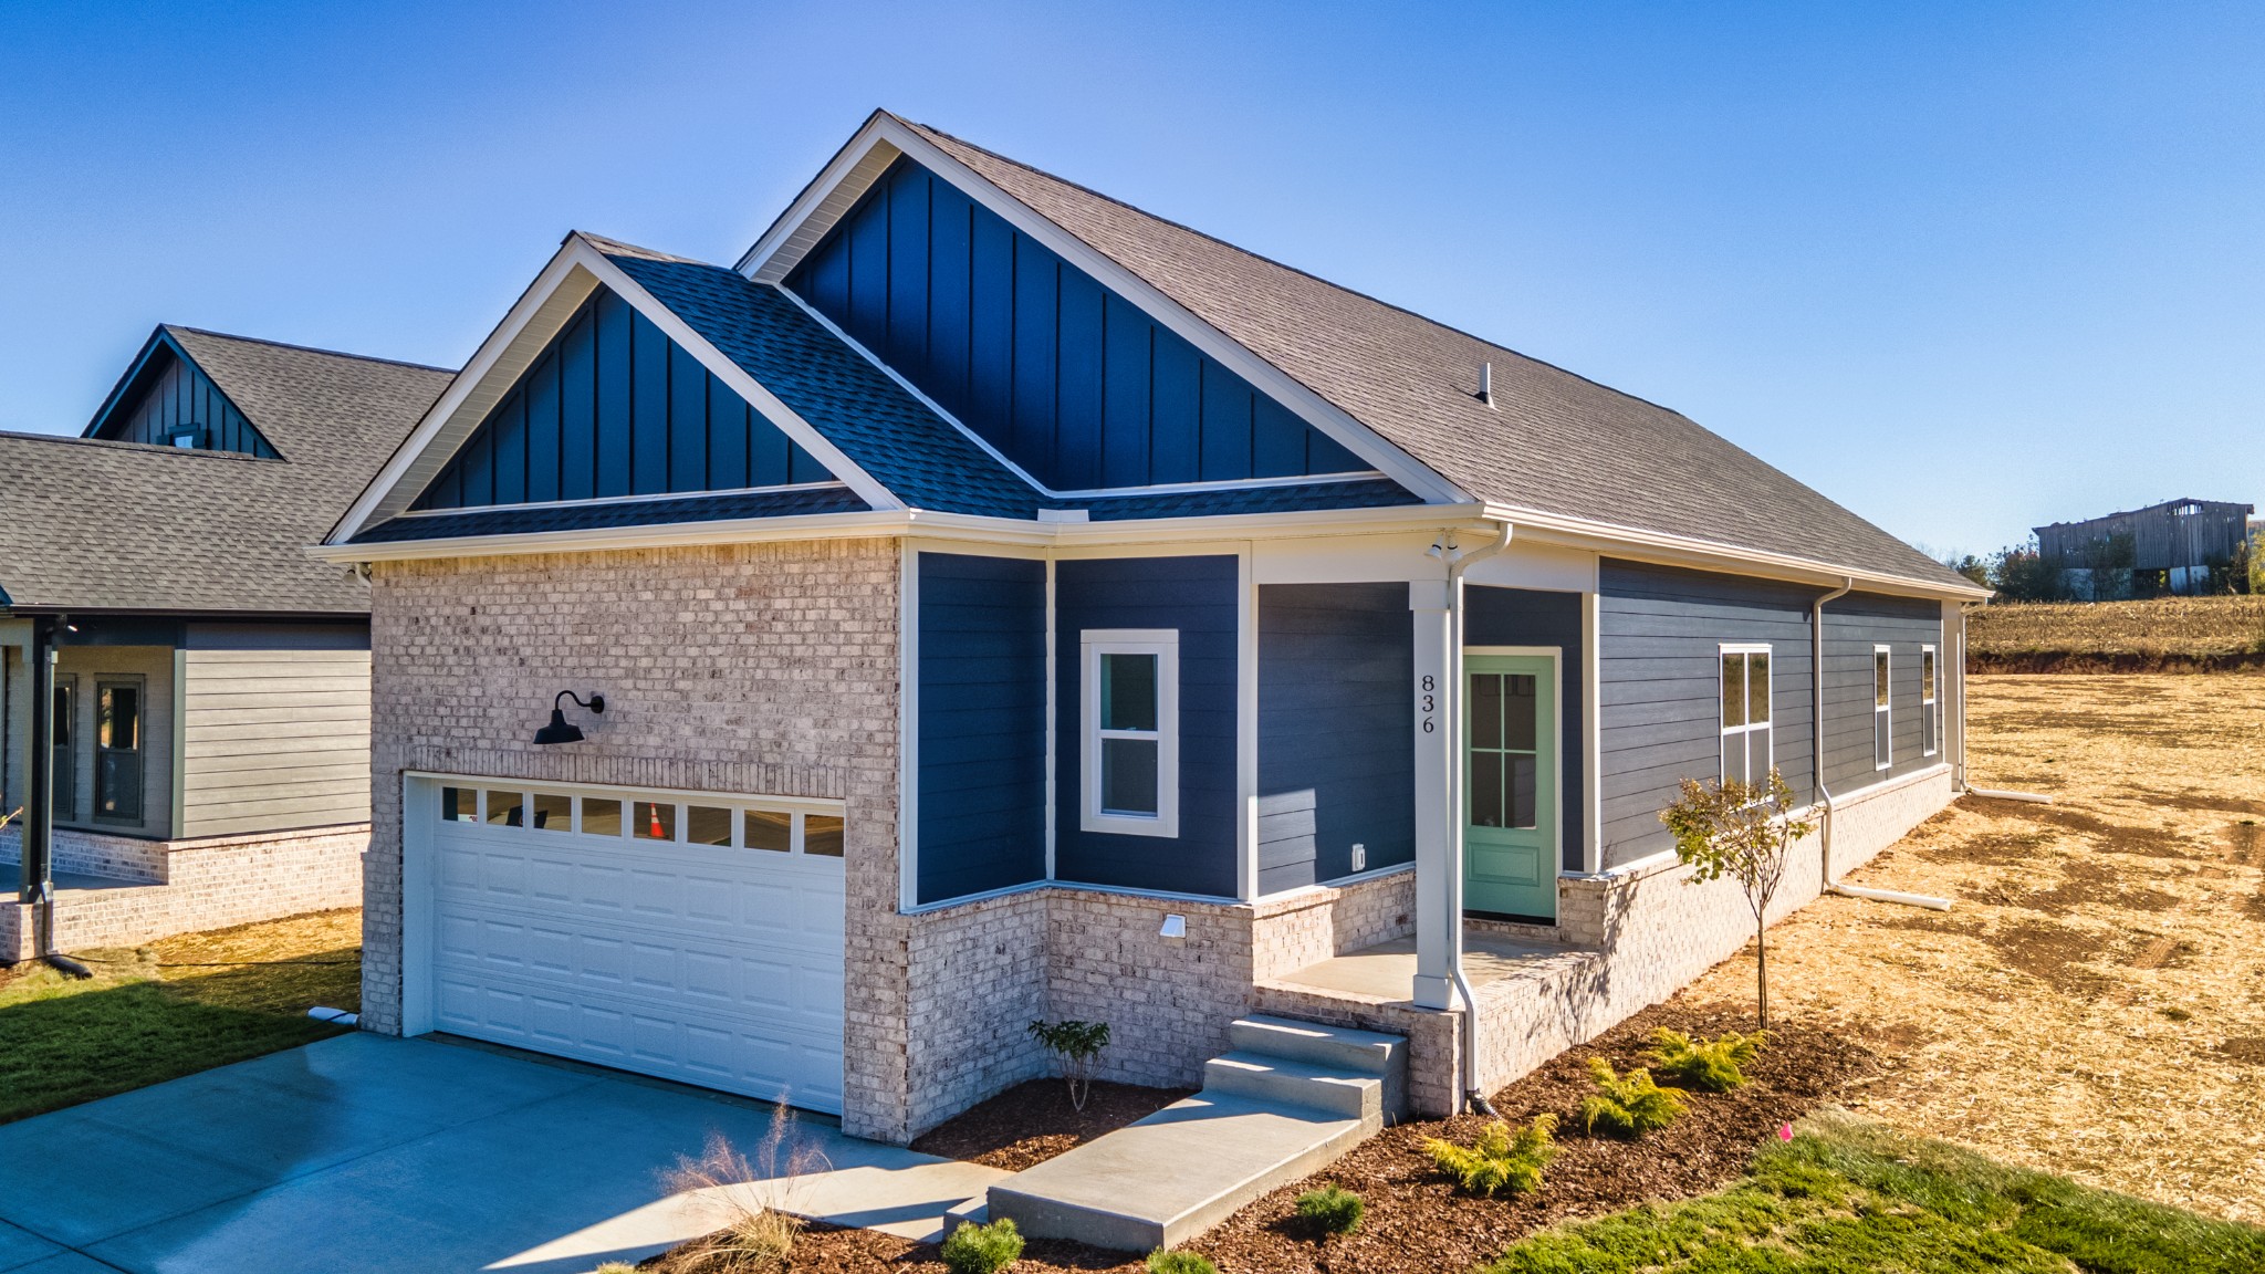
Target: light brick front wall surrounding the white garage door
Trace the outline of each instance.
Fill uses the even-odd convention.
[[[908,1140],[897,914],[892,540],[381,562],[362,1025],[401,1031],[401,775],[818,796],[847,805],[843,1129]],[[600,691],[584,744],[530,739]]]

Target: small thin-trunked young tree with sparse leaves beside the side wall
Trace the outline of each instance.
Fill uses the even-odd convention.
[[[1807,818],[1794,818],[1794,793],[1785,775],[1769,768],[1764,782],[1724,780],[1703,784],[1683,780],[1683,796],[1660,812],[1660,823],[1676,836],[1676,857],[1696,870],[1690,884],[1730,877],[1753,909],[1753,988],[1755,1020],[1769,1027],[1769,902],[1785,884],[1794,841],[1817,830]]]

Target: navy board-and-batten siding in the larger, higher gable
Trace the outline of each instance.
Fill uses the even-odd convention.
[[[1053,490],[1368,469],[911,159],[786,288]]]

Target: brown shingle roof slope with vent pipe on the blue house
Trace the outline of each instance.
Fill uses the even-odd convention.
[[[1479,499],[1968,585],[1681,413],[901,122]]]

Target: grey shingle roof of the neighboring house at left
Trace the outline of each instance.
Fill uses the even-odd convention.
[[[306,555],[453,372],[168,326],[281,453],[0,433],[0,605],[360,614]]]

